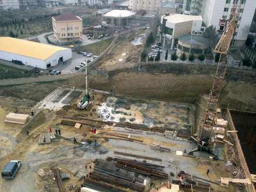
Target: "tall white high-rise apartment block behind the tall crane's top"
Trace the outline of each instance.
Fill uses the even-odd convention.
[[[234,40],[236,46],[243,46],[253,20],[255,0],[184,0],[183,11],[189,15],[201,15],[207,27],[212,25],[217,31],[223,31],[233,3],[239,5],[240,2],[239,22]]]

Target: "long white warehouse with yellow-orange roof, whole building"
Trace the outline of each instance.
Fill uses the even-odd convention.
[[[24,65],[48,69],[72,58],[71,49],[21,40],[0,37],[0,59],[19,62]]]

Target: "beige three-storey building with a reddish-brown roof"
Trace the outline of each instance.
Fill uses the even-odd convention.
[[[52,27],[59,42],[78,41],[83,34],[83,20],[69,13],[52,17]]]

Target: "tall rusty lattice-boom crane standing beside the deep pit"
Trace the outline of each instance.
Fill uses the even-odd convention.
[[[197,144],[197,148],[190,151],[189,154],[193,154],[195,151],[207,151],[214,156],[214,159],[218,159],[218,155],[214,153],[214,140],[215,133],[214,127],[216,126],[216,108],[219,101],[219,95],[224,83],[226,74],[226,67],[228,63],[227,53],[231,47],[234,33],[236,31],[237,22],[239,20],[239,9],[241,1],[234,2],[233,8],[230,14],[229,21],[226,24],[226,28],[214,48],[214,52],[219,54],[219,61],[214,76],[214,83],[209,91],[209,99],[207,100],[207,107],[205,108],[204,119],[198,127],[197,137],[191,136],[191,138]]]

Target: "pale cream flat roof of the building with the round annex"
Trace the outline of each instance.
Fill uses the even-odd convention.
[[[202,20],[201,16],[184,15],[184,14],[178,14],[178,13],[173,13],[167,16],[163,15],[162,18],[165,18],[168,20],[168,22],[172,22],[172,23],[182,23],[182,22],[189,22],[192,20]]]

